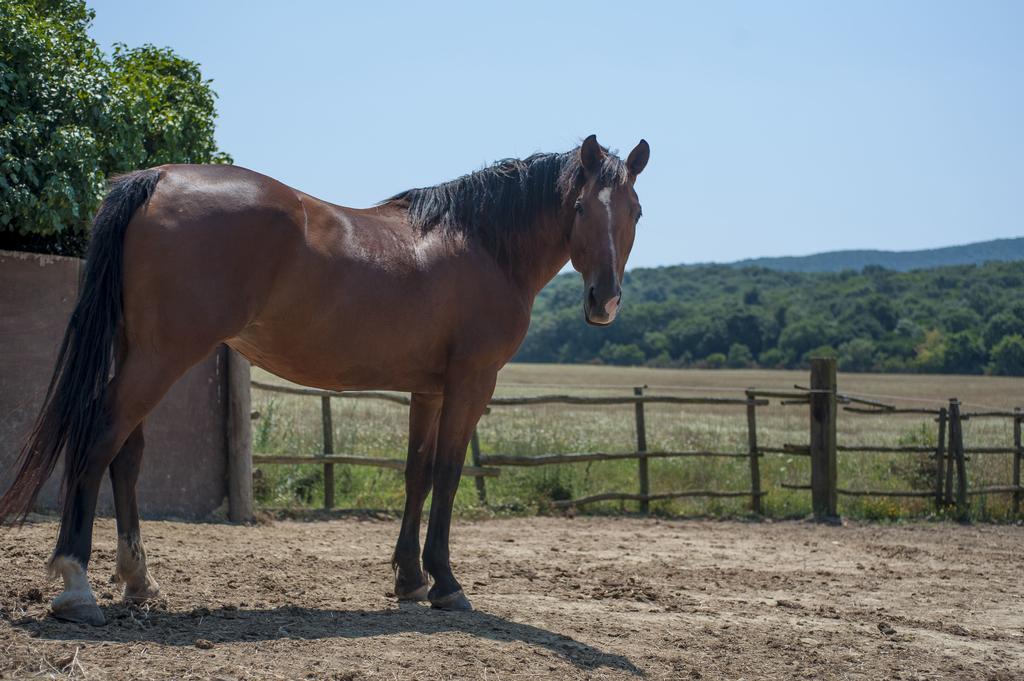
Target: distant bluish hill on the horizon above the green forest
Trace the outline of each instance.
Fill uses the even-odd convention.
[[[731,262],[729,265],[764,267],[787,272],[838,272],[844,269],[860,271],[868,265],[878,265],[905,272],[911,269],[946,265],[980,265],[1008,260],[1024,260],[1024,237],[923,251],[830,251],[804,256],[751,258]]]

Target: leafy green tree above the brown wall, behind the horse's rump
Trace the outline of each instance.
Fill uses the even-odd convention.
[[[105,179],[230,162],[199,66],[151,45],[108,59],[83,0],[0,0],[0,246],[79,254]]]

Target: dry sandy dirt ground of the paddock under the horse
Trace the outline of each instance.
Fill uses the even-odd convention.
[[[56,525],[0,531],[0,678],[1022,679],[1024,528],[459,522],[476,611],[390,597],[394,520],[145,522],[165,599],[46,616]]]

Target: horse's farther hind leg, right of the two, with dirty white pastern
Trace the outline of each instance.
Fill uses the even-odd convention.
[[[145,548],[138,524],[135,483],[142,468],[145,438],[140,423],[111,462],[111,486],[114,488],[114,512],[118,522],[118,558],[115,577],[125,585],[124,600],[142,603],[160,595],[160,585],[145,564]]]

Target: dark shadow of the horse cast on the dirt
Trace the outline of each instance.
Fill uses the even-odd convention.
[[[193,646],[269,640],[358,639],[401,633],[464,633],[505,643],[547,648],[575,667],[610,668],[644,676],[629,657],[604,652],[555,632],[473,610],[446,612],[418,603],[380,610],[336,610],[299,606],[275,608],[196,608],[189,612],[139,608],[123,603],[101,606],[106,625],[90,627],[52,618],[23,618],[12,625],[31,636],[61,641],[106,641]]]

